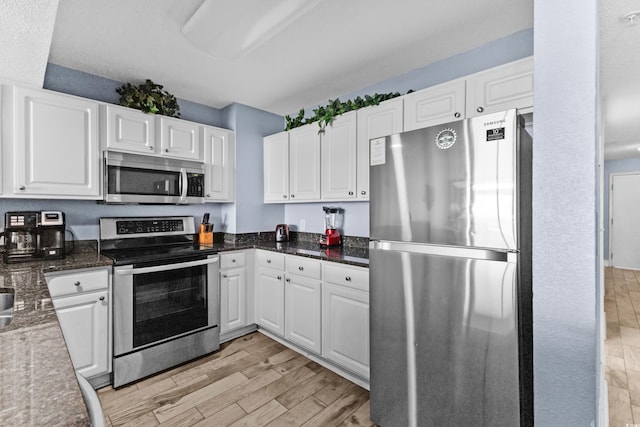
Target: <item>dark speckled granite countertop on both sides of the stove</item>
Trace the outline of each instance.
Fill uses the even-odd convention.
[[[256,248],[369,266],[364,240],[355,242],[360,246],[323,249],[315,235],[299,239],[294,235],[291,242],[276,243],[272,234],[220,234],[211,247],[219,252]],[[0,425],[90,424],[44,275],[111,264],[109,258],[98,254],[95,241],[78,242],[64,259],[0,261],[0,288],[15,292],[13,320],[0,329]]]

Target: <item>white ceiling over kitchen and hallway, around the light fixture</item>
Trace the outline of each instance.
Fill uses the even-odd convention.
[[[533,26],[533,0],[322,0],[235,58],[215,58],[181,32],[204,2],[212,28],[231,23],[234,31],[256,10],[252,2],[280,1],[60,0],[49,61],[121,82],[150,78],[216,108],[239,102],[284,115]],[[623,18],[637,3],[601,1],[609,158],[640,156],[640,23]]]

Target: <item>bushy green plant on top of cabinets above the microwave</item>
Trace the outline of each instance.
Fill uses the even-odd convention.
[[[120,95],[120,105],[122,106],[135,108],[145,113],[180,117],[178,100],[163,88],[164,86],[147,79],[138,86],[126,83],[116,89],[116,92]]]

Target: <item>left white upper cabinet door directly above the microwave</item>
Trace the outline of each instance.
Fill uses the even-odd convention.
[[[154,154],[155,116],[115,105],[101,106],[102,144],[105,149]]]

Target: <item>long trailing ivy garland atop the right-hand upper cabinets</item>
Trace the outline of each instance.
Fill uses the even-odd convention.
[[[411,93],[413,90],[408,91],[407,93]],[[309,123],[318,122],[318,126],[320,127],[320,132],[324,130],[326,125],[330,125],[333,122],[333,119],[336,116],[344,114],[348,111],[357,110],[363,107],[369,107],[372,105],[379,105],[382,101],[386,101],[388,99],[396,98],[401,96],[399,92],[389,92],[389,93],[375,93],[373,95],[365,95],[364,98],[361,96],[357,96],[354,99],[350,99],[348,101],[342,102],[339,98],[334,100],[329,100],[327,105],[321,106],[313,109],[313,116],[305,118],[304,108],[301,108],[296,117],[291,117],[286,115],[284,117],[286,121],[286,126],[284,130],[291,130]]]

